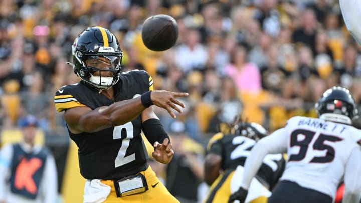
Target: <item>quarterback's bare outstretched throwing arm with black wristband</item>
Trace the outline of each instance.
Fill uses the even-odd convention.
[[[166,90],[152,91],[144,93],[140,97],[115,102],[110,106],[103,106],[94,110],[87,106],[70,108],[65,111],[64,119],[70,131],[78,134],[82,132],[96,132],[112,126],[123,125],[139,116],[146,109],[144,104],[147,104],[147,107],[151,104],[157,105],[166,109],[171,116],[175,117],[172,109],[179,113],[182,112],[175,104],[182,108],[185,107],[182,102],[175,99],[182,96],[188,96],[188,93],[169,92]]]

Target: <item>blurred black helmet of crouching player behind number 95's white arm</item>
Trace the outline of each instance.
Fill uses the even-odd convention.
[[[240,122],[234,126],[235,134],[248,137],[256,142],[268,135],[268,131],[258,123]]]

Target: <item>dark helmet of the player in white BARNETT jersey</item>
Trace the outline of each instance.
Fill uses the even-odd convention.
[[[315,104],[315,109],[319,118],[345,124],[351,124],[358,117],[352,95],[348,89],[340,86],[326,90]]]

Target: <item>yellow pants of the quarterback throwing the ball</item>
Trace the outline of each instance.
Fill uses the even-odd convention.
[[[179,201],[173,197],[166,187],[159,181],[154,171],[149,166],[148,169],[140,172],[143,174],[147,180],[148,190],[146,192],[140,194],[134,194],[130,196],[117,197],[114,188],[113,180],[101,180],[103,184],[109,185],[111,187],[111,191],[109,196],[104,202],[112,203],[112,202],[177,202]]]

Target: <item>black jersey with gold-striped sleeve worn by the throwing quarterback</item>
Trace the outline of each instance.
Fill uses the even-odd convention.
[[[145,71],[129,71],[120,74],[120,80],[113,88],[114,101],[84,81],[63,86],[54,97],[56,109],[61,112],[77,106],[91,109],[109,106],[152,90],[153,81]],[[140,135],[140,116],[124,125],[98,132],[73,134],[69,129],[68,132],[78,146],[80,173],[84,178],[118,179],[148,167],[148,154]]]

